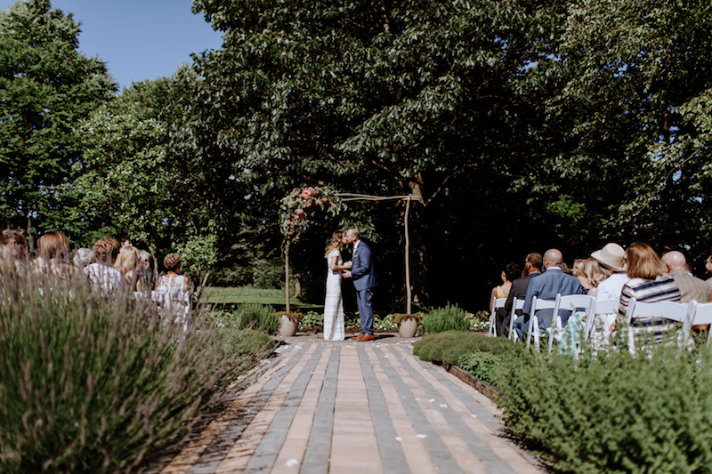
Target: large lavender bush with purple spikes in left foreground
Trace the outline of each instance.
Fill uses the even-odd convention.
[[[274,347],[266,333],[159,318],[133,294],[7,278],[0,471],[133,472]]]

